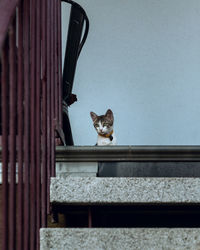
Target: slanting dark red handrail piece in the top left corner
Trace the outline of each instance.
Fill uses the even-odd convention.
[[[7,35],[8,27],[16,12],[19,0],[0,1],[0,50],[2,49],[4,40]]]

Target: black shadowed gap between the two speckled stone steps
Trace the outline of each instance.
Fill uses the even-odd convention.
[[[92,227],[133,228],[133,227],[200,227],[199,204],[99,204],[74,206],[54,204],[53,210],[64,215],[65,227],[88,227],[89,212]]]

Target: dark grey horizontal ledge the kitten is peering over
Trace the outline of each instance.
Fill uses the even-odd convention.
[[[58,162],[200,161],[200,146],[59,146]]]

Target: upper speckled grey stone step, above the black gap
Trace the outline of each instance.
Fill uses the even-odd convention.
[[[66,204],[200,203],[200,178],[51,178],[50,199]]]

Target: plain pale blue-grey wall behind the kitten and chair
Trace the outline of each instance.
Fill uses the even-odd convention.
[[[107,108],[120,145],[200,144],[200,1],[78,2],[90,32],[69,109],[75,144],[95,144],[89,112]],[[66,7],[63,20],[64,31]]]

